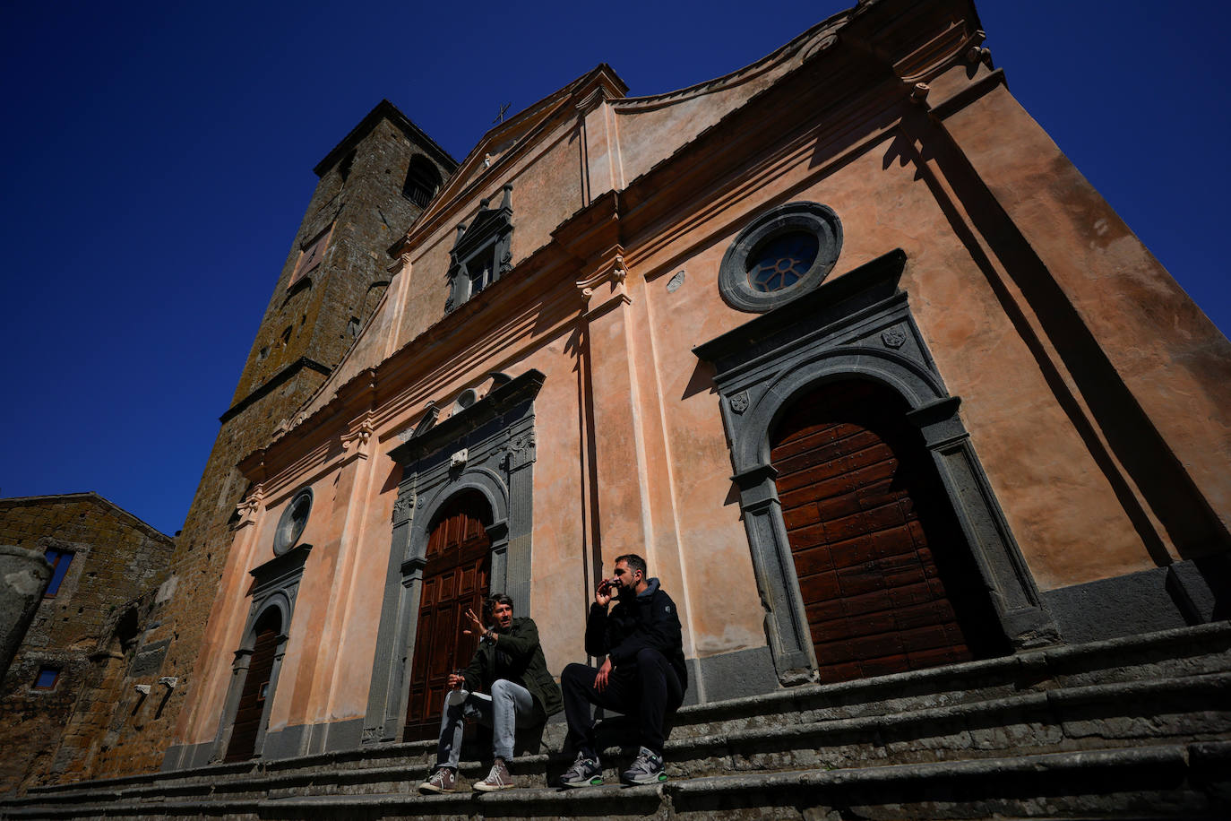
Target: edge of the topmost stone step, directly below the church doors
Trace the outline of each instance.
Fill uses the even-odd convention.
[[[938,682],[948,683],[949,686],[944,689],[954,691],[963,689],[959,684],[961,678],[972,678],[985,676],[991,672],[1004,671],[1012,672],[1016,670],[1038,672],[1040,668],[1055,667],[1059,663],[1072,661],[1073,659],[1088,659],[1094,656],[1107,657],[1109,662],[1101,665],[1098,668],[1119,668],[1128,663],[1131,663],[1131,657],[1125,657],[1124,652],[1129,649],[1135,649],[1139,651],[1146,651],[1155,647],[1163,649],[1167,651],[1174,650],[1195,650],[1195,655],[1209,655],[1213,649],[1204,647],[1203,645],[1209,641],[1222,640],[1231,647],[1231,622],[1216,622],[1213,624],[1200,624],[1187,628],[1173,628],[1169,630],[1160,630],[1156,633],[1147,633],[1144,635],[1124,636],[1119,639],[1107,639],[1102,641],[1091,641],[1078,645],[1061,645],[1057,647],[1043,647],[1039,650],[1030,650],[1020,652],[1013,656],[1003,656],[998,659],[987,659],[982,661],[964,662],[960,665],[945,665],[943,667],[932,667],[928,670],[911,671],[905,673],[891,673],[889,676],[880,676],[876,678],[857,679],[851,682],[838,682],[833,684],[801,684],[798,687],[784,688],[773,693],[763,693],[760,695],[746,695],[741,698],[725,699],[719,702],[708,702],[705,704],[692,704],[681,708],[677,713],[678,716],[683,719],[692,719],[693,716],[702,716],[707,713],[723,713],[723,711],[741,711],[747,708],[758,708],[757,713],[776,713],[780,711],[778,709],[783,702],[792,703],[798,700],[811,700],[821,698],[825,695],[836,695],[848,692],[867,691],[869,693],[875,693],[876,691],[889,689],[889,691],[901,691],[904,683],[908,682]],[[1168,659],[1183,659],[1185,656],[1194,655],[1188,652],[1172,652]],[[1109,656],[1115,656],[1110,659]],[[1149,663],[1157,663],[1161,660],[1155,660]],[[1231,667],[1231,655],[1229,655],[1229,667]],[[1177,679],[1187,678],[1188,676],[1174,677]],[[1046,681],[1046,679],[1044,679]],[[1158,681],[1171,681],[1171,679],[1158,679]],[[1041,683],[1041,682],[1040,682]],[[1060,686],[1054,689],[1064,689]],[[760,708],[774,708],[774,709],[760,709]],[[756,714],[756,713],[755,713]],[[702,721],[688,721],[691,724],[699,724]],[[676,726],[682,726],[682,723],[677,721]],[[267,772],[271,768],[287,768],[287,767],[310,767],[314,763],[329,763],[336,761],[346,761],[353,758],[388,758],[398,757],[404,752],[409,752],[415,748],[430,750],[436,742],[435,741],[409,741],[399,742],[391,745],[374,745],[368,747],[357,747],[353,750],[331,751],[311,753],[308,756],[295,756],[291,758],[279,758],[275,761],[247,761],[247,762],[234,762],[234,763],[217,763],[207,764],[204,767],[192,767],[172,771],[162,771],[156,773],[142,773],[135,775],[118,775],[113,778],[100,778],[92,779],[91,782],[79,782],[91,784],[90,789],[101,789],[106,787],[118,787],[124,783],[145,782],[149,779],[154,780],[171,780],[176,778],[183,778],[187,773],[193,773],[202,778],[213,778],[217,775],[240,773],[245,769]],[[43,794],[43,793],[57,793],[65,789],[74,789],[78,784],[46,784],[31,787],[27,794]]]

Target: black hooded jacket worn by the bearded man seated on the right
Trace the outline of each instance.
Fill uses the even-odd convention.
[[[680,676],[680,683],[687,688],[688,668],[684,666],[676,603],[662,592],[657,579],[650,579],[646,583],[648,587],[638,596],[632,590],[622,590],[611,612],[597,602],[590,606],[586,652],[591,656],[607,656],[616,670],[619,670],[633,665],[639,650],[657,650],[671,662]]]

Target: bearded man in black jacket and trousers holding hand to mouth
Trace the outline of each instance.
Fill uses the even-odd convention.
[[[616,598],[614,607],[608,604]],[[662,767],[662,724],[680,709],[688,687],[680,614],[657,579],[646,577],[645,559],[629,553],[616,559],[614,577],[595,591],[586,620],[586,652],[607,656],[602,667],[569,665],[560,676],[564,715],[577,746],[577,759],[561,779],[564,787],[602,784],[590,705],[635,716],[641,750],[620,775],[625,784],[667,779]]]

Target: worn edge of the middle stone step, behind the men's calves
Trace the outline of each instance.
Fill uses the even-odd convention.
[[[1182,679],[1158,679],[1151,682],[1123,682],[1117,684],[1092,684],[1086,687],[1067,688],[1064,692],[1040,692],[1040,693],[1024,693],[1017,697],[1007,697],[1000,699],[988,699],[986,702],[979,703],[964,703],[952,707],[942,708],[927,708],[922,710],[913,710],[907,713],[900,713],[895,715],[879,715],[879,716],[864,716],[859,719],[828,719],[815,723],[803,723],[803,724],[789,724],[778,725],[771,727],[753,727],[748,730],[736,730],[726,734],[715,734],[707,736],[697,736],[691,739],[671,740],[667,742],[667,748],[665,751],[668,761],[677,757],[678,753],[696,752],[698,750],[704,751],[707,748],[730,748],[732,745],[766,740],[776,740],[782,737],[815,737],[826,734],[856,734],[867,732],[868,730],[875,729],[878,731],[905,729],[911,725],[926,725],[928,723],[943,723],[952,719],[964,719],[971,715],[979,715],[987,711],[1019,711],[1022,709],[1040,709],[1046,708],[1049,704],[1057,705],[1073,705],[1083,703],[1105,703],[1114,707],[1119,699],[1136,697],[1144,698],[1157,694],[1160,692],[1174,693],[1177,689],[1181,692],[1188,692],[1190,694],[1195,693],[1213,693],[1224,694],[1231,689],[1231,673],[1208,673],[1201,676],[1190,676]],[[635,751],[624,747],[609,747],[602,751],[602,757],[604,759],[620,759],[632,757]],[[677,753],[677,756],[672,756]],[[515,772],[521,775],[529,775],[531,773],[538,774],[545,772],[547,766],[551,761],[567,762],[567,756],[559,752],[547,752],[535,753],[532,756],[521,756],[515,758],[512,767]],[[892,764],[874,764],[873,767],[886,767]],[[486,771],[487,764],[480,761],[465,761],[460,762],[460,769],[465,774],[481,774]],[[529,772],[523,772],[529,771]],[[761,771],[758,771],[761,772]],[[353,769],[342,769],[334,772],[299,772],[299,773],[265,773],[265,774],[252,774],[249,777],[240,777],[235,779],[228,779],[224,783],[215,784],[207,795],[217,795],[219,793],[238,793],[244,790],[272,790],[272,789],[292,789],[298,785],[309,784],[347,784],[369,780],[374,783],[380,782],[417,782],[426,777],[426,771],[421,762],[405,763],[396,767],[361,767]],[[119,796],[130,798],[134,800],[140,800],[142,796],[154,794],[185,794],[185,793],[197,793],[203,787],[208,787],[211,779],[197,779],[193,782],[175,784],[175,785],[159,785],[159,784],[145,784],[129,789],[122,789],[118,791]],[[60,795],[53,795],[48,798],[62,798],[65,801],[90,799],[98,795],[112,795],[116,793],[113,790],[101,790],[91,789],[89,791],[78,793],[65,793]],[[26,799],[31,800],[30,798]],[[18,799],[20,801],[20,799]],[[16,806],[18,804],[10,801],[0,801],[0,807],[5,805]]]

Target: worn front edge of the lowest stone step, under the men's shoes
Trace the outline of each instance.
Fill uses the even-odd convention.
[[[984,778],[1024,775],[1038,779],[1040,774],[1082,774],[1092,769],[1141,769],[1176,777],[1197,775],[1198,779],[1219,784],[1231,783],[1231,741],[1194,742],[1187,745],[1155,745],[1147,747],[1085,750],[1076,752],[1041,753],[1000,758],[980,758],[923,764],[888,764],[884,767],[853,769],[801,769],[774,773],[704,775],[668,780],[650,787],[593,787],[580,790],[556,788],[519,788],[501,793],[453,793],[446,795],[371,794],[371,795],[321,795],[288,796],[277,799],[223,799],[211,801],[208,812],[249,812],[262,817],[276,817],[278,810],[313,810],[329,807],[396,809],[416,806],[420,814],[439,814],[455,805],[533,805],[567,801],[576,803],[651,803],[657,806],[664,799],[673,804],[687,803],[691,798],[713,796],[766,790],[837,791],[851,788],[933,785],[938,779],[950,789],[960,789],[963,783]],[[431,807],[431,809],[428,809]],[[201,801],[159,801],[126,805],[124,803],[86,804],[69,806],[31,805],[10,810],[6,817],[70,817],[71,815],[150,815],[182,811],[199,816],[204,809]],[[616,806],[612,804],[612,810]],[[614,812],[608,812],[614,815]]]

